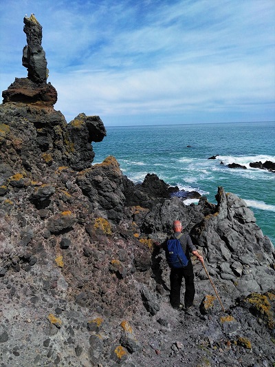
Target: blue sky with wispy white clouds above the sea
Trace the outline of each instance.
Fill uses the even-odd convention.
[[[1,91],[28,74],[31,12],[68,122],[275,120],[274,0],[1,0]]]

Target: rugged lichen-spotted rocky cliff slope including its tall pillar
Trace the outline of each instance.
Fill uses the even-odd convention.
[[[272,366],[275,252],[252,211],[221,187],[217,205],[188,207],[154,174],[134,185],[113,156],[92,165],[102,120],[54,109],[41,25],[24,23],[28,77],[0,105],[1,366]],[[195,315],[170,307],[154,242],[175,219],[226,313],[195,260]]]

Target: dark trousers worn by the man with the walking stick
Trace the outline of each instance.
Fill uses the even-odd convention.
[[[179,307],[182,278],[185,280],[184,305],[192,306],[195,297],[194,272],[189,260],[185,268],[171,269],[170,271],[170,304]]]

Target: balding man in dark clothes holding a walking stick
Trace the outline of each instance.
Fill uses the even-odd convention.
[[[181,310],[181,308],[183,308],[183,305],[180,303],[180,291],[182,278],[184,277],[184,306],[186,308],[186,313],[191,313],[190,307],[192,306],[195,297],[195,284],[193,266],[190,259],[190,251],[193,255],[197,256],[201,263],[203,263],[203,257],[199,255],[196,247],[194,246],[194,244],[192,244],[190,235],[185,235],[181,233],[181,229],[181,222],[179,222],[179,220],[175,220],[173,222],[174,234],[170,236],[170,238],[177,238],[179,242],[181,242],[181,247],[184,250],[186,258],[188,258],[189,261],[188,265],[183,268],[171,268],[170,270],[170,304],[173,308],[176,308],[177,310]],[[161,245],[163,249],[166,249],[167,241],[170,238],[167,238],[166,241]]]

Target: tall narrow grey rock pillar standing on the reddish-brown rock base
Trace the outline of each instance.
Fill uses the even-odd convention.
[[[23,48],[23,66],[28,69],[28,78],[34,83],[47,81],[47,60],[45,51],[41,46],[42,27],[34,17],[34,14],[24,17],[24,32],[27,35],[28,45]]]

